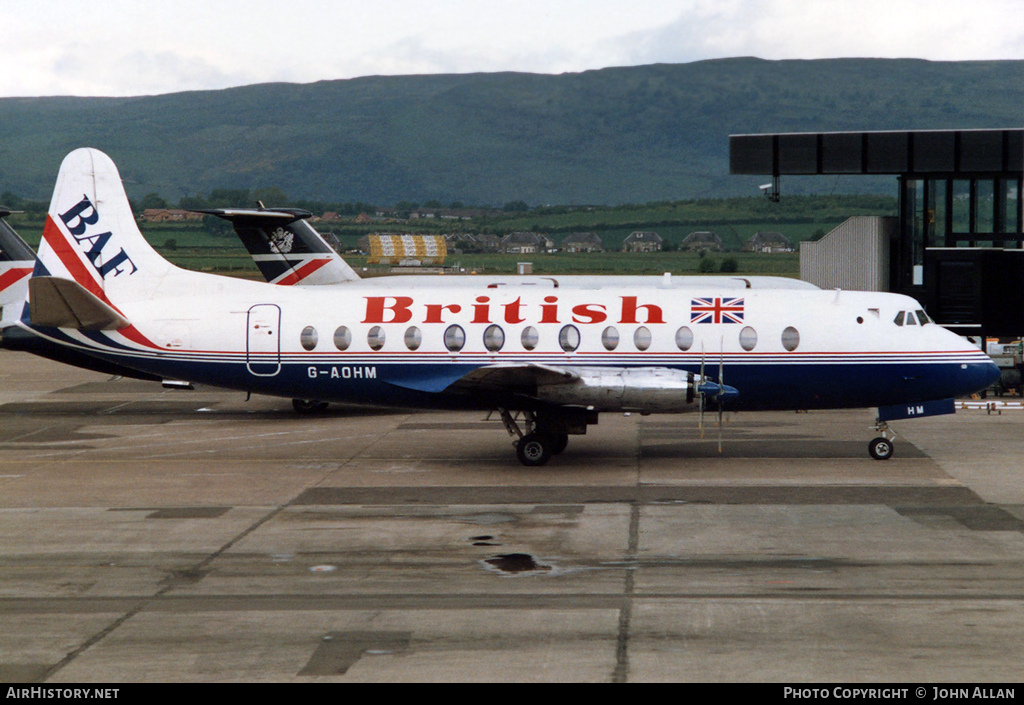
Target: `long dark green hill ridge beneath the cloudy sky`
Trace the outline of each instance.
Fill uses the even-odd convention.
[[[1013,127],[1024,61],[734,58],[558,76],[264,84],[136,98],[0,99],[0,193],[46,199],[65,154],[115,159],[133,198],[276,186],[393,204],[618,204],[751,195],[728,135]],[[788,179],[787,193],[892,193]]]

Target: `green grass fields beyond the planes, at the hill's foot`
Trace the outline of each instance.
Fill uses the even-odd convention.
[[[759,231],[778,232],[794,245],[833,230],[852,215],[893,215],[895,199],[871,196],[792,197],[781,203],[763,198],[710,199],[674,203],[650,203],[615,207],[555,206],[524,213],[490,211],[472,220],[419,218],[376,220],[356,223],[354,216],[335,222],[316,222],[322,232],[335,235],[346,251],[354,251],[360,236],[375,232],[451,234],[458,232],[504,235],[516,231],[543,233],[556,243],[573,232],[596,233],[608,250],[616,250],[632,232],[654,231],[668,250],[657,253],[565,252],[519,254],[471,254],[450,252],[445,265],[479,274],[513,274],[517,263],[529,261],[539,275],[628,274],[660,275],[722,272],[729,260],[735,274],[799,276],[799,255],[740,252]],[[11,224],[33,247],[42,232],[41,214],[15,214]],[[220,224],[214,223],[214,224]],[[146,240],[179,266],[201,272],[259,278],[242,243],[229,230],[223,232],[200,222],[141,223]],[[728,252],[710,253],[703,261],[695,253],[678,251],[679,244],[694,231],[714,231]],[[366,256],[346,254],[346,260],[362,271]],[[369,268],[368,274],[387,272]]]

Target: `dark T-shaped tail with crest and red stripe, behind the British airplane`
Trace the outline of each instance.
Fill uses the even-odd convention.
[[[312,215],[309,211],[261,206],[198,212],[230,221],[256,266],[270,284],[341,284],[359,279],[328,238],[306,222],[306,218]]]

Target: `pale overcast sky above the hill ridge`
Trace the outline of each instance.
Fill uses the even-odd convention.
[[[0,0],[0,96],[724,56],[1024,58],[1022,0]]]

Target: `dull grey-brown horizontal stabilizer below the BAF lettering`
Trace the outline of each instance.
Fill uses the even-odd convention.
[[[121,330],[131,324],[78,282],[59,277],[29,280],[29,317],[34,326]]]

